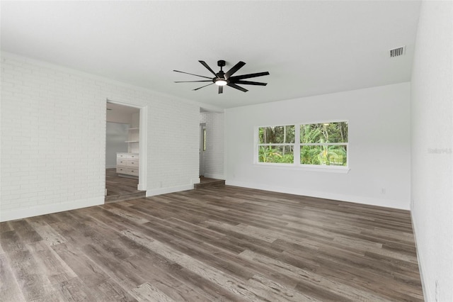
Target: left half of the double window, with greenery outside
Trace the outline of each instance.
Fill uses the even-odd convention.
[[[258,128],[258,162],[294,163],[295,125]]]

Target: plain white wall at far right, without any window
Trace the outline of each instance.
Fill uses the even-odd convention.
[[[423,291],[426,301],[453,301],[452,1],[421,5],[411,93],[411,209]]]

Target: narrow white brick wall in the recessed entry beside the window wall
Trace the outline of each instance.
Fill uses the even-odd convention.
[[[224,179],[224,113],[202,112],[206,123],[205,177]]]

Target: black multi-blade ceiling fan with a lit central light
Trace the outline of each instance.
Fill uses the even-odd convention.
[[[235,72],[237,72],[243,65],[246,65],[246,63],[239,61],[236,65],[231,67],[229,71],[224,72],[222,70],[222,67],[225,66],[225,61],[224,60],[219,60],[217,61],[217,65],[220,67],[220,71],[215,73],[214,70],[209,67],[209,65],[206,64],[205,61],[198,61],[200,62],[204,67],[206,67],[207,70],[209,70],[212,74],[214,74],[214,77],[205,77],[205,76],[200,76],[198,74],[191,74],[196,77],[204,77],[206,78],[205,80],[199,80],[199,81],[179,81],[175,83],[192,83],[192,82],[212,82],[211,84],[207,84],[205,86],[201,86],[198,88],[195,88],[193,90],[198,90],[202,89],[203,87],[210,86],[212,84],[216,84],[219,86],[219,94],[222,94],[224,92],[224,86],[230,86],[234,89],[241,90],[243,92],[247,92],[248,90],[239,86],[238,84],[244,84],[244,85],[258,85],[258,86],[266,86],[268,83],[262,83],[262,82],[251,82],[251,81],[243,81],[243,79],[250,79],[251,77],[262,77],[265,75],[269,75],[269,72],[257,72],[255,74],[243,74],[239,76],[233,76]],[[179,70],[173,70],[173,72],[180,72]],[[188,72],[180,72],[182,74],[190,74]]]

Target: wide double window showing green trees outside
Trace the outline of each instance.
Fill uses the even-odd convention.
[[[257,147],[258,163],[348,167],[348,122],[258,127]]]

